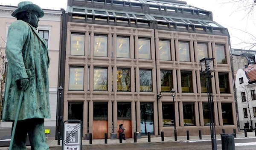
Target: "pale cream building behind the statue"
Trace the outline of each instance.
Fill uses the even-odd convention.
[[[15,6],[0,5],[0,49],[5,51],[7,34],[10,25],[17,19],[11,14],[15,11]],[[58,64],[59,64],[59,49],[60,49],[60,32],[61,32],[61,10],[44,9],[44,17],[38,23],[38,32],[46,40],[50,65],[49,65],[49,100],[51,109],[51,119],[45,119],[44,125],[46,129],[50,129],[48,137],[55,136],[56,127],[56,106],[57,106],[57,85],[58,85]],[[8,62],[6,61],[6,65]],[[1,122],[0,138],[5,135],[10,135],[12,122]]]

